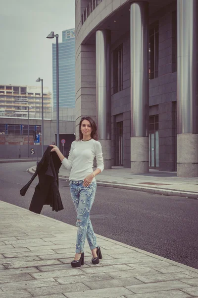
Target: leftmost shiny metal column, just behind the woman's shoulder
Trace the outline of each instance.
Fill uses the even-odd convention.
[[[111,168],[111,32],[96,32],[96,98],[99,142],[102,146],[104,168]]]

